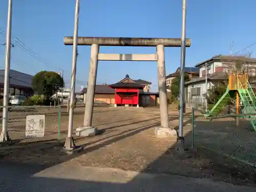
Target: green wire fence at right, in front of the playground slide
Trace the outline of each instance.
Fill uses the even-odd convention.
[[[191,142],[193,148],[203,147],[222,156],[256,167],[256,133],[249,116],[219,115],[205,118],[193,109]],[[237,124],[237,118],[239,123]]]

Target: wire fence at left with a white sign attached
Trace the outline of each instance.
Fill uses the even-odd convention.
[[[8,135],[15,141],[60,140],[60,106],[7,106]],[[3,123],[0,106],[0,126]]]

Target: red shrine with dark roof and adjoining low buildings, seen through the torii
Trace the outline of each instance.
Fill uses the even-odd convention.
[[[131,79],[129,75],[114,84],[100,84],[95,87],[95,104],[114,106],[158,106],[159,94],[151,93],[151,82],[142,79]],[[84,102],[87,88],[82,90]]]

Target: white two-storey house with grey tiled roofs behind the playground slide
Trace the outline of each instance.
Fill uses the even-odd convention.
[[[235,70],[235,64],[241,62],[246,68],[245,72],[255,75],[256,59],[242,56],[217,55],[198,63],[195,67],[199,68],[199,78],[185,82],[185,99],[187,102],[204,102],[204,94],[211,87],[218,86],[222,80],[227,80],[227,74]],[[206,77],[205,77],[206,74]],[[205,83],[207,78],[207,85]]]

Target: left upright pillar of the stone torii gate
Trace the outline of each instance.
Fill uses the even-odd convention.
[[[91,48],[90,71],[88,77],[88,86],[86,93],[86,109],[84,111],[83,126],[91,127],[93,118],[94,93],[96,86],[97,68],[98,68],[99,45],[93,44]]]

